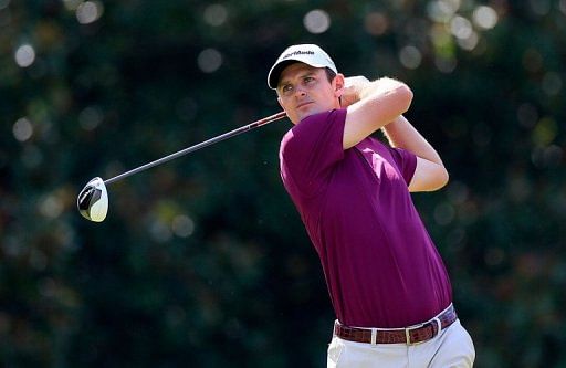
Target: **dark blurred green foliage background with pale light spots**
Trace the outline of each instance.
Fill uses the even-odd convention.
[[[394,76],[447,188],[415,194],[476,367],[566,367],[566,0],[0,0],[0,365],[325,367],[333,311],[279,177],[269,67]]]

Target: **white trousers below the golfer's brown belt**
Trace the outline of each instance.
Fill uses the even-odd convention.
[[[333,336],[327,368],[471,368],[475,359],[470,334],[455,320],[434,338],[417,344],[365,344]]]

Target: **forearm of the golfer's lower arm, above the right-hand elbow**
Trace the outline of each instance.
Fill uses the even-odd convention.
[[[402,115],[382,128],[392,147],[405,148],[416,156],[442,165],[442,159],[427,139]]]

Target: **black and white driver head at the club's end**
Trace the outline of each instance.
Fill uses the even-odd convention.
[[[94,178],[81,190],[76,198],[78,212],[86,220],[102,222],[108,212],[108,193],[102,178]]]

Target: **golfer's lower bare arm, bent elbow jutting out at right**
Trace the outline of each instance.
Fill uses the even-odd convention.
[[[448,171],[436,149],[403,117],[384,127],[391,147],[405,148],[417,156],[417,168],[409,183],[410,191],[433,191],[448,182]]]

